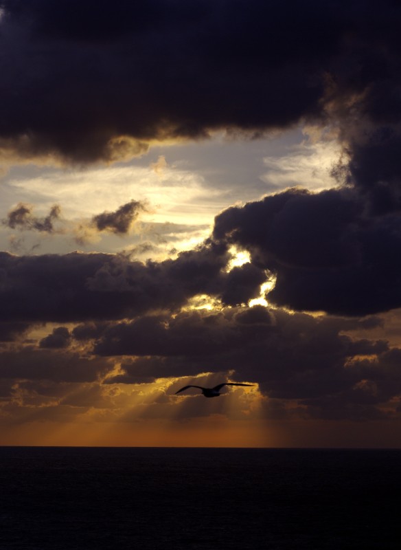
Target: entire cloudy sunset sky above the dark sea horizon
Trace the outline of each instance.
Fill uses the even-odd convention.
[[[400,24],[0,0],[0,445],[401,446]]]

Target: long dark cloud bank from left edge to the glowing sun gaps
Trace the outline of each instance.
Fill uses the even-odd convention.
[[[225,245],[205,243],[161,263],[113,254],[13,256],[0,253],[0,320],[80,321],[133,317],[182,307],[210,294],[238,305],[259,292],[264,274],[244,265],[227,273]]]

